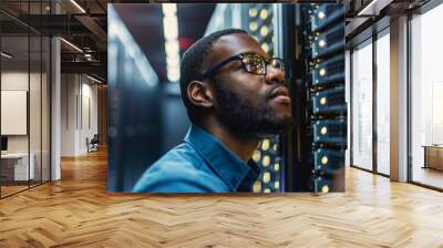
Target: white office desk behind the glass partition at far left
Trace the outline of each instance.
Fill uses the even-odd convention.
[[[7,153],[1,154],[1,174],[7,180],[28,180],[34,179],[35,155],[30,153],[31,158],[28,169],[28,153]],[[29,176],[29,178],[28,178]]]

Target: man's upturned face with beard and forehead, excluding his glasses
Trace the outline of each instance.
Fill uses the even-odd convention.
[[[206,69],[238,53],[269,55],[249,35],[222,37],[214,44]],[[285,72],[267,65],[266,75],[247,72],[239,60],[224,66],[213,78],[214,111],[222,124],[246,138],[277,134],[291,122],[291,102]]]

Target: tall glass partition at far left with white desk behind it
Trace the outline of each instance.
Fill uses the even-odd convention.
[[[50,12],[49,0],[1,1],[0,7],[33,27],[42,24],[35,14]],[[6,16],[0,14],[0,22],[4,197],[50,178],[50,40]]]

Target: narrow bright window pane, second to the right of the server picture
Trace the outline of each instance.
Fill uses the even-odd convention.
[[[377,169],[390,173],[390,39],[377,41]]]

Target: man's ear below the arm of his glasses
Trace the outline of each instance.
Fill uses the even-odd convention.
[[[194,80],[187,85],[187,97],[197,106],[212,107],[214,105],[213,92],[208,84],[202,81]]]

